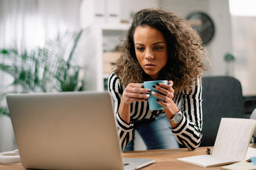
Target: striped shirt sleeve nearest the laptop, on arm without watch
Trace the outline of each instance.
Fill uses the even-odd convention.
[[[122,149],[126,147],[129,141],[132,140],[133,124],[127,124],[122,118],[119,117],[118,109],[122,98],[122,86],[119,83],[119,78],[114,75],[114,72],[110,73],[108,79],[108,91],[112,97],[114,103],[114,113],[116,115],[117,134],[119,135],[119,143]]]

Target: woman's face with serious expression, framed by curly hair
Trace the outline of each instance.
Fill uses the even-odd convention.
[[[134,31],[134,47],[142,69],[156,80],[168,58],[164,35],[151,26],[139,26]]]

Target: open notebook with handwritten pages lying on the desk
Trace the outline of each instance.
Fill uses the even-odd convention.
[[[222,118],[213,147],[213,154],[178,158],[178,161],[198,166],[219,166],[250,159],[256,149],[249,148],[256,120],[244,118]]]

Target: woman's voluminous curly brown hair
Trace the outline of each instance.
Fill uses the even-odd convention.
[[[203,70],[207,69],[204,62],[209,61],[208,55],[200,36],[190,24],[164,8],[146,8],[134,14],[114,70],[122,86],[142,83],[149,78],[135,54],[134,31],[139,26],[156,28],[166,38],[168,61],[161,69],[159,79],[174,81],[176,92],[191,89],[196,79],[201,78]]]

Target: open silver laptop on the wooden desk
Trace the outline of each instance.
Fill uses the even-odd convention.
[[[154,159],[122,159],[107,92],[6,97],[26,169],[139,169]]]

